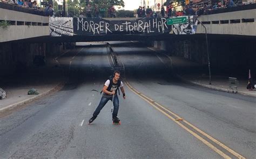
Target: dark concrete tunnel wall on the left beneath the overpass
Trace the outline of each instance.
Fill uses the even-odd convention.
[[[58,43],[0,43],[0,77],[13,73],[23,73],[27,69],[36,67],[33,60],[36,55],[45,56],[46,65],[61,55],[69,44]]]

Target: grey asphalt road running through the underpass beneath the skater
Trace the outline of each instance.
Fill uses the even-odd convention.
[[[84,44],[59,57],[62,90],[0,118],[0,158],[255,158],[255,98],[182,83],[142,44],[110,45],[127,82],[122,125],[112,125],[111,102],[87,125],[101,97],[91,90],[115,68],[105,44]]]

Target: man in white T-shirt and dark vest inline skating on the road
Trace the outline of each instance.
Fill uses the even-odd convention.
[[[100,110],[103,109],[103,107],[106,105],[106,103],[109,100],[112,101],[112,99],[113,99],[112,102],[114,105],[114,110],[112,113],[112,120],[113,120],[113,123],[119,124],[120,120],[117,118],[117,113],[118,113],[118,109],[119,109],[119,99],[117,96],[117,90],[119,87],[123,93],[123,98],[125,99],[124,84],[122,81],[120,81],[119,78],[120,78],[120,72],[114,71],[113,78],[107,79],[107,81],[105,82],[103,89],[102,89],[102,91],[103,91],[102,99],[100,99],[97,109],[93,113],[92,118],[89,120],[89,124],[91,124],[91,122],[97,118]]]

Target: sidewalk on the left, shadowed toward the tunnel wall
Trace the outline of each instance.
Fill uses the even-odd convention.
[[[48,66],[29,69],[27,73],[17,73],[0,78],[0,88],[5,90],[6,99],[0,100],[0,112],[14,109],[16,106],[41,98],[48,93],[62,88],[64,76],[60,67],[49,60]],[[28,95],[31,88],[38,90],[39,95]]]

